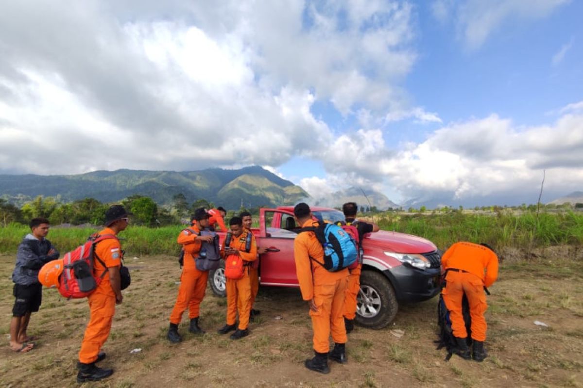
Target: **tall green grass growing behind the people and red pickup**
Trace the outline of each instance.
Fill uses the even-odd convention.
[[[583,214],[525,212],[498,212],[493,215],[451,212],[436,215],[398,215],[386,213],[377,219],[384,230],[415,234],[446,248],[456,241],[488,243],[494,248],[534,248],[559,244],[583,245]],[[182,225],[151,229],[130,225],[120,233],[122,246],[128,255],[178,255],[180,247],[176,237]],[[70,251],[82,244],[98,229],[52,227],[48,239],[61,252]],[[27,226],[10,224],[0,227],[0,253],[13,254],[30,230]]]

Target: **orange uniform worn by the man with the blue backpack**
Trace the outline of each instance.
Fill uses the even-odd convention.
[[[307,220],[301,227],[317,226],[318,223]],[[314,350],[328,353],[329,337],[337,344],[346,343],[346,328],[342,317],[348,269],[328,272],[314,260],[324,263],[324,250],[313,232],[298,234],[294,241],[297,280],[300,283],[303,300],[314,299],[318,311],[310,309],[312,328],[314,329]],[[314,260],[310,259],[313,258]]]

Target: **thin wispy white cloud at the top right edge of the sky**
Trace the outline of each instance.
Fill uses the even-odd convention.
[[[568,2],[570,0],[465,0],[457,3],[435,0],[432,10],[439,22],[455,23],[466,47],[477,49],[504,24],[542,19]]]

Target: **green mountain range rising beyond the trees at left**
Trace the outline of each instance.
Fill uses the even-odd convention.
[[[120,201],[129,195],[151,197],[168,204],[184,194],[188,202],[204,198],[227,209],[293,205],[308,194],[299,186],[261,168],[206,169],[191,172],[117,170],[80,175],[0,175],[0,197],[13,202],[37,195],[75,201],[93,197],[101,202]]]

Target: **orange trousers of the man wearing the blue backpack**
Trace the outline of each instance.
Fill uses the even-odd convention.
[[[346,328],[342,317],[346,283],[347,278],[344,277],[334,283],[314,286],[314,303],[318,311],[310,309],[310,316],[314,329],[314,350],[318,353],[328,353],[330,350],[330,333],[335,343],[346,343]]]

